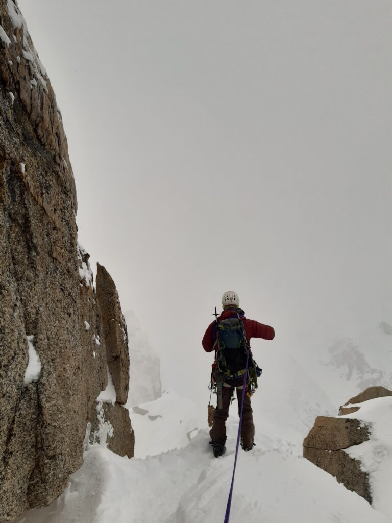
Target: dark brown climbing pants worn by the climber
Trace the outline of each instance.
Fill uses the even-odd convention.
[[[228,417],[230,401],[232,399],[234,388],[237,388],[238,415],[241,412],[241,400],[243,393],[242,385],[244,384],[244,380],[239,379],[235,381],[227,381],[226,384],[229,386],[222,387],[222,408],[216,408],[214,411],[214,423],[210,430],[212,441],[216,441],[217,439],[226,441],[226,419]],[[238,387],[241,388],[239,389]],[[252,407],[250,405],[250,397],[245,394],[243,424],[241,426],[241,438],[243,439],[243,445],[245,448],[252,447],[254,437],[255,425],[253,425],[253,414]]]

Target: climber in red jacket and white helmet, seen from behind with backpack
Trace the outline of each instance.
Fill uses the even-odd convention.
[[[245,451],[251,450],[254,446],[255,425],[253,425],[250,396],[252,385],[256,383],[257,387],[256,373],[259,376],[261,369],[253,361],[249,340],[250,338],[273,339],[275,336],[274,329],[269,325],[245,318],[244,311],[239,308],[239,298],[236,292],[225,292],[222,297],[222,306],[223,312],[216,317],[216,321],[209,325],[202,341],[207,353],[215,350],[213,381],[218,401],[210,430],[215,457],[222,456],[226,450],[226,419],[234,388],[237,389],[238,413],[241,410],[241,394],[238,393],[238,390],[243,389],[247,351],[249,351],[249,363],[247,393],[245,394],[241,426],[241,446]]]

